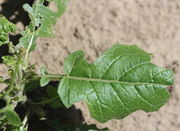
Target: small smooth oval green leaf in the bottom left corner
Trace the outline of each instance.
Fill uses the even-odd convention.
[[[21,126],[22,124],[21,120],[15,111],[11,109],[6,109],[5,114],[6,114],[7,121],[10,125],[15,126],[15,127]]]

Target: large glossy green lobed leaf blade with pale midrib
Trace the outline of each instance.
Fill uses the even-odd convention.
[[[173,72],[152,64],[150,56],[137,46],[116,44],[88,64],[82,51],[74,52],[65,61],[67,76],[58,94],[66,107],[86,102],[100,122],[156,111],[169,98],[166,86],[173,84]]]

